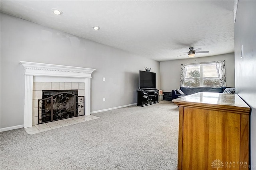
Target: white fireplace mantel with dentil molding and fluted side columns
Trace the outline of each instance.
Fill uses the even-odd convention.
[[[85,115],[90,115],[90,79],[95,69],[20,61],[25,69],[24,128],[32,127],[33,80],[36,77],[81,78],[84,81]],[[64,79],[63,79],[64,78]]]

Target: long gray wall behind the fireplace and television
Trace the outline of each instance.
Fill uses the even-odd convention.
[[[91,111],[136,103],[139,70],[144,66],[156,72],[160,88],[157,61],[1,13],[0,128],[24,123],[25,77],[20,61],[95,68]]]

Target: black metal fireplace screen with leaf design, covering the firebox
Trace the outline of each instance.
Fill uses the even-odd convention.
[[[38,124],[84,115],[84,96],[78,90],[43,91],[38,100]]]

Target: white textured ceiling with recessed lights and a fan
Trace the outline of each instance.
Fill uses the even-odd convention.
[[[156,61],[234,52],[234,1],[11,1],[1,12]],[[56,16],[52,8],[62,10]],[[98,31],[93,26],[100,26]]]

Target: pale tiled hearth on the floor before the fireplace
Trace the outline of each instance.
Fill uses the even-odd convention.
[[[78,117],[72,117],[69,119],[62,119],[58,121],[52,121],[48,123],[43,123],[39,125],[33,125],[32,127],[25,128],[25,131],[29,134],[35,134],[35,133],[40,133],[52,129],[56,129],[59,127],[64,127],[64,126],[69,126],[69,125],[74,125],[76,123],[81,123],[84,121],[90,121],[93,119],[98,119],[100,117],[94,116],[94,115],[84,115],[84,116],[78,116]]]

